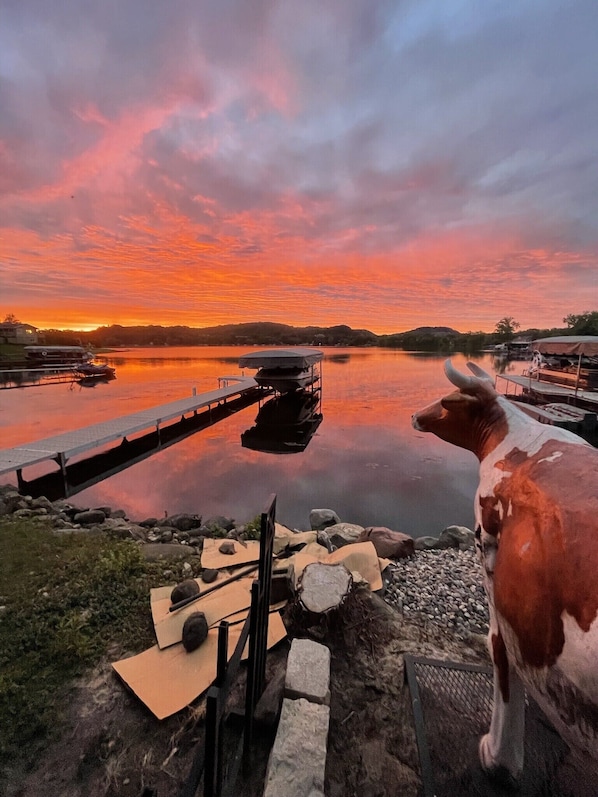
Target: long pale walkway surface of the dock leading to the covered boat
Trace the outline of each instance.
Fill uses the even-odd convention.
[[[77,454],[99,448],[114,440],[126,440],[129,435],[148,429],[160,431],[162,424],[182,419],[189,413],[197,413],[202,408],[226,403],[233,396],[241,396],[250,391],[259,390],[255,379],[249,377],[223,377],[217,390],[201,393],[197,396],[178,399],[169,404],[151,407],[131,415],[123,415],[110,421],[103,421],[83,429],[46,437],[32,443],[23,443],[14,448],[0,450],[0,474],[10,471],[21,471],[22,468],[40,462],[54,460],[62,469],[67,461]]]

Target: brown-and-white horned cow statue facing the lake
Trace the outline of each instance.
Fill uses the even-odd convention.
[[[458,389],[412,423],[480,461],[475,537],[494,665],[482,768],[517,787],[527,689],[598,777],[598,450],[533,420],[468,368],[472,376],[447,360]]]

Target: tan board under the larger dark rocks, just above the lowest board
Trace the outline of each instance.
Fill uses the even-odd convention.
[[[211,592],[205,597],[200,597],[188,606],[170,612],[172,606],[170,600],[170,588],[166,597],[162,597],[163,587],[151,590],[150,602],[154,630],[159,648],[167,648],[175,645],[183,638],[183,625],[190,614],[203,612],[206,616],[208,626],[217,623],[219,620],[229,617],[232,613],[249,609],[251,606],[251,585],[254,578],[240,578],[237,581],[223,584],[220,589]],[[205,585],[204,585],[205,586]]]

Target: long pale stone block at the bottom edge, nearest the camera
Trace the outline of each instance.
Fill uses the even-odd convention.
[[[310,797],[324,792],[330,709],[285,699],[270,754],[264,797]]]

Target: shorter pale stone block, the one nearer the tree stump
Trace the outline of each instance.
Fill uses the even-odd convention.
[[[330,651],[311,639],[293,639],[287,659],[285,696],[330,705]]]

